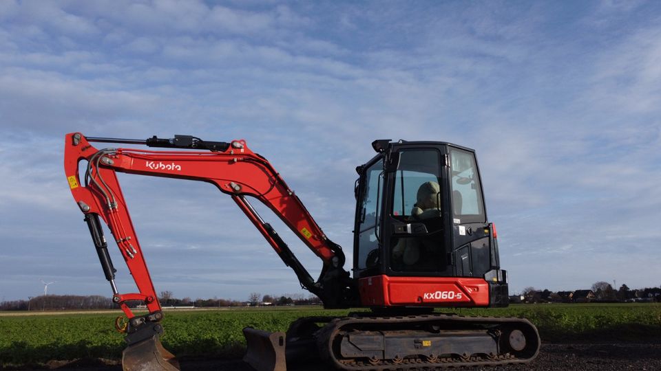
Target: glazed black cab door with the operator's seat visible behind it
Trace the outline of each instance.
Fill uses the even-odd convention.
[[[388,276],[452,275],[443,210],[447,194],[443,146],[397,148],[398,166],[387,174]]]

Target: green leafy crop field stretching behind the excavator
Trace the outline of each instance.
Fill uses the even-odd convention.
[[[509,308],[459,309],[461,315],[525,317],[543,341],[659,341],[661,304],[525,304]],[[232,358],[244,351],[242,328],[284,331],[298,317],[346,315],[321,308],[241,308],[166,311],[163,345],[178,357]],[[123,336],[114,330],[121,314],[0,314],[0,362],[14,366],[52,359],[120,359]],[[12,315],[7,315],[12,314]]]

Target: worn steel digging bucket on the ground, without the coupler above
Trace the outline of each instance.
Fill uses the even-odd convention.
[[[160,344],[158,334],[127,346],[122,354],[124,371],[178,371],[179,362]]]

